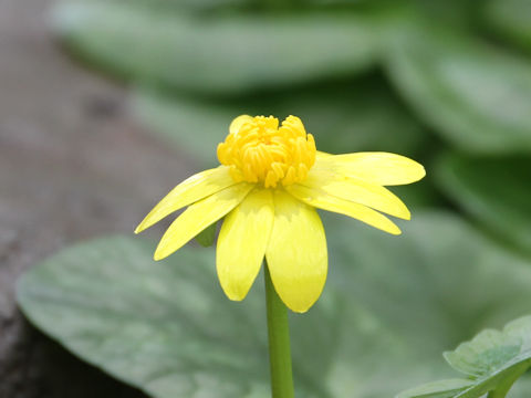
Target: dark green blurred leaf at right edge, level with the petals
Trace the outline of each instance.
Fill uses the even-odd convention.
[[[531,252],[531,186],[528,157],[445,156],[436,182],[500,239]]]

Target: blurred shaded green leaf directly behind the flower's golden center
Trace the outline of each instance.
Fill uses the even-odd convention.
[[[232,101],[169,97],[140,91],[135,109],[149,130],[162,135],[194,159],[211,166],[217,144],[241,114],[290,114],[302,118],[317,148],[330,153],[388,150],[412,154],[427,139],[419,124],[379,82],[350,82],[326,87]]]

